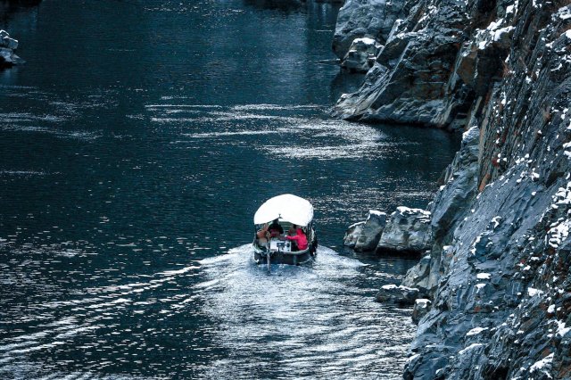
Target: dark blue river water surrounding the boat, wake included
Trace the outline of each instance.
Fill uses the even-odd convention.
[[[400,378],[414,260],[343,250],[369,209],[425,207],[458,147],[333,120],[359,78],[331,4],[45,0],[0,8],[1,378]],[[254,212],[315,207],[318,259],[252,262]]]

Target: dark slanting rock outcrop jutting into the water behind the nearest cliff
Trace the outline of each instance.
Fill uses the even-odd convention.
[[[334,114],[350,120],[465,128],[482,111],[482,100],[505,70],[503,60],[515,29],[501,22],[488,25],[494,16],[511,17],[513,7],[509,12],[504,3],[411,0],[404,7],[399,4],[405,17],[393,23],[363,86],[354,94],[342,95]],[[344,21],[338,27],[341,24]]]

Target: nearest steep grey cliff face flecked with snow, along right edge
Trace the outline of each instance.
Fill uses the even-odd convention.
[[[426,284],[430,268],[433,302],[404,378],[571,378],[571,5],[468,1],[466,14],[449,83],[470,87],[479,131],[431,208],[417,273]],[[501,72],[484,67],[492,51]]]

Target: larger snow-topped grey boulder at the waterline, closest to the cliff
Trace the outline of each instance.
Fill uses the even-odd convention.
[[[430,212],[400,206],[387,220],[377,250],[424,252],[431,245]]]

